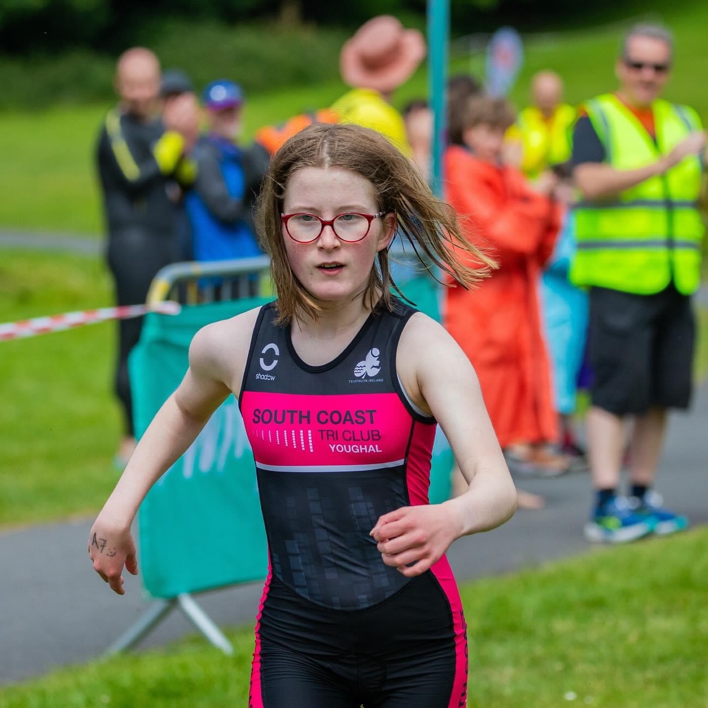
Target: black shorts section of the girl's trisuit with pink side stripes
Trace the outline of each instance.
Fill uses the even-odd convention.
[[[430,571],[350,611],[316,605],[273,576],[256,626],[249,708],[464,707],[465,629],[461,606],[455,612]]]

